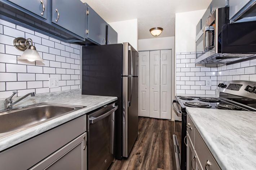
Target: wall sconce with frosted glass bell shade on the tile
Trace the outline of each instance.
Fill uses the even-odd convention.
[[[30,42],[31,44],[30,44]],[[18,37],[13,40],[13,45],[16,49],[24,51],[23,54],[18,57],[18,60],[28,60],[28,61],[44,61],[41,59],[39,53],[36,51],[36,47],[33,46],[33,41],[30,38]]]

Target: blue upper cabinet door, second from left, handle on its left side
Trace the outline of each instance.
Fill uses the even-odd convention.
[[[52,0],[52,22],[85,38],[85,4],[80,0]]]

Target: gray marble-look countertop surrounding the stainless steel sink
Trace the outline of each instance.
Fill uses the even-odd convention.
[[[19,97],[14,97],[13,101],[17,100]],[[0,100],[0,103],[4,104]],[[43,133],[49,129],[57,127],[63,123],[66,123],[69,120],[75,119],[81,115],[84,115],[90,111],[98,109],[101,106],[109,104],[117,100],[117,97],[108,97],[108,96],[89,96],[89,95],[81,95],[81,89],[64,91],[64,92],[52,92],[52,93],[44,93],[40,95],[35,95],[35,97],[27,97],[19,104],[15,106],[26,106],[31,104],[37,104],[41,102],[48,102],[54,104],[65,104],[65,105],[73,105],[73,106],[87,106],[80,110],[71,112],[70,114],[66,114],[60,116],[56,119],[49,120],[45,123],[36,125],[34,127],[28,128],[26,130],[22,130],[21,132],[14,133],[7,137],[0,139],[0,151],[5,150],[15,144],[21,143],[29,138],[32,138],[40,133]]]

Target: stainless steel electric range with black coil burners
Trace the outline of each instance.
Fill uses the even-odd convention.
[[[256,82],[248,81],[227,81],[218,85],[220,96],[212,97],[191,97],[175,96],[172,105],[177,116],[182,118],[181,129],[175,130],[181,134],[174,134],[173,141],[175,147],[175,158],[177,170],[186,170],[186,107],[198,107],[208,109],[226,109],[256,111]],[[177,128],[175,126],[175,128]],[[181,135],[177,137],[178,135]],[[181,138],[179,143],[178,138]]]

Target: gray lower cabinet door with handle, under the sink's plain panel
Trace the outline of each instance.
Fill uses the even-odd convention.
[[[87,170],[86,133],[66,144],[30,170]]]

